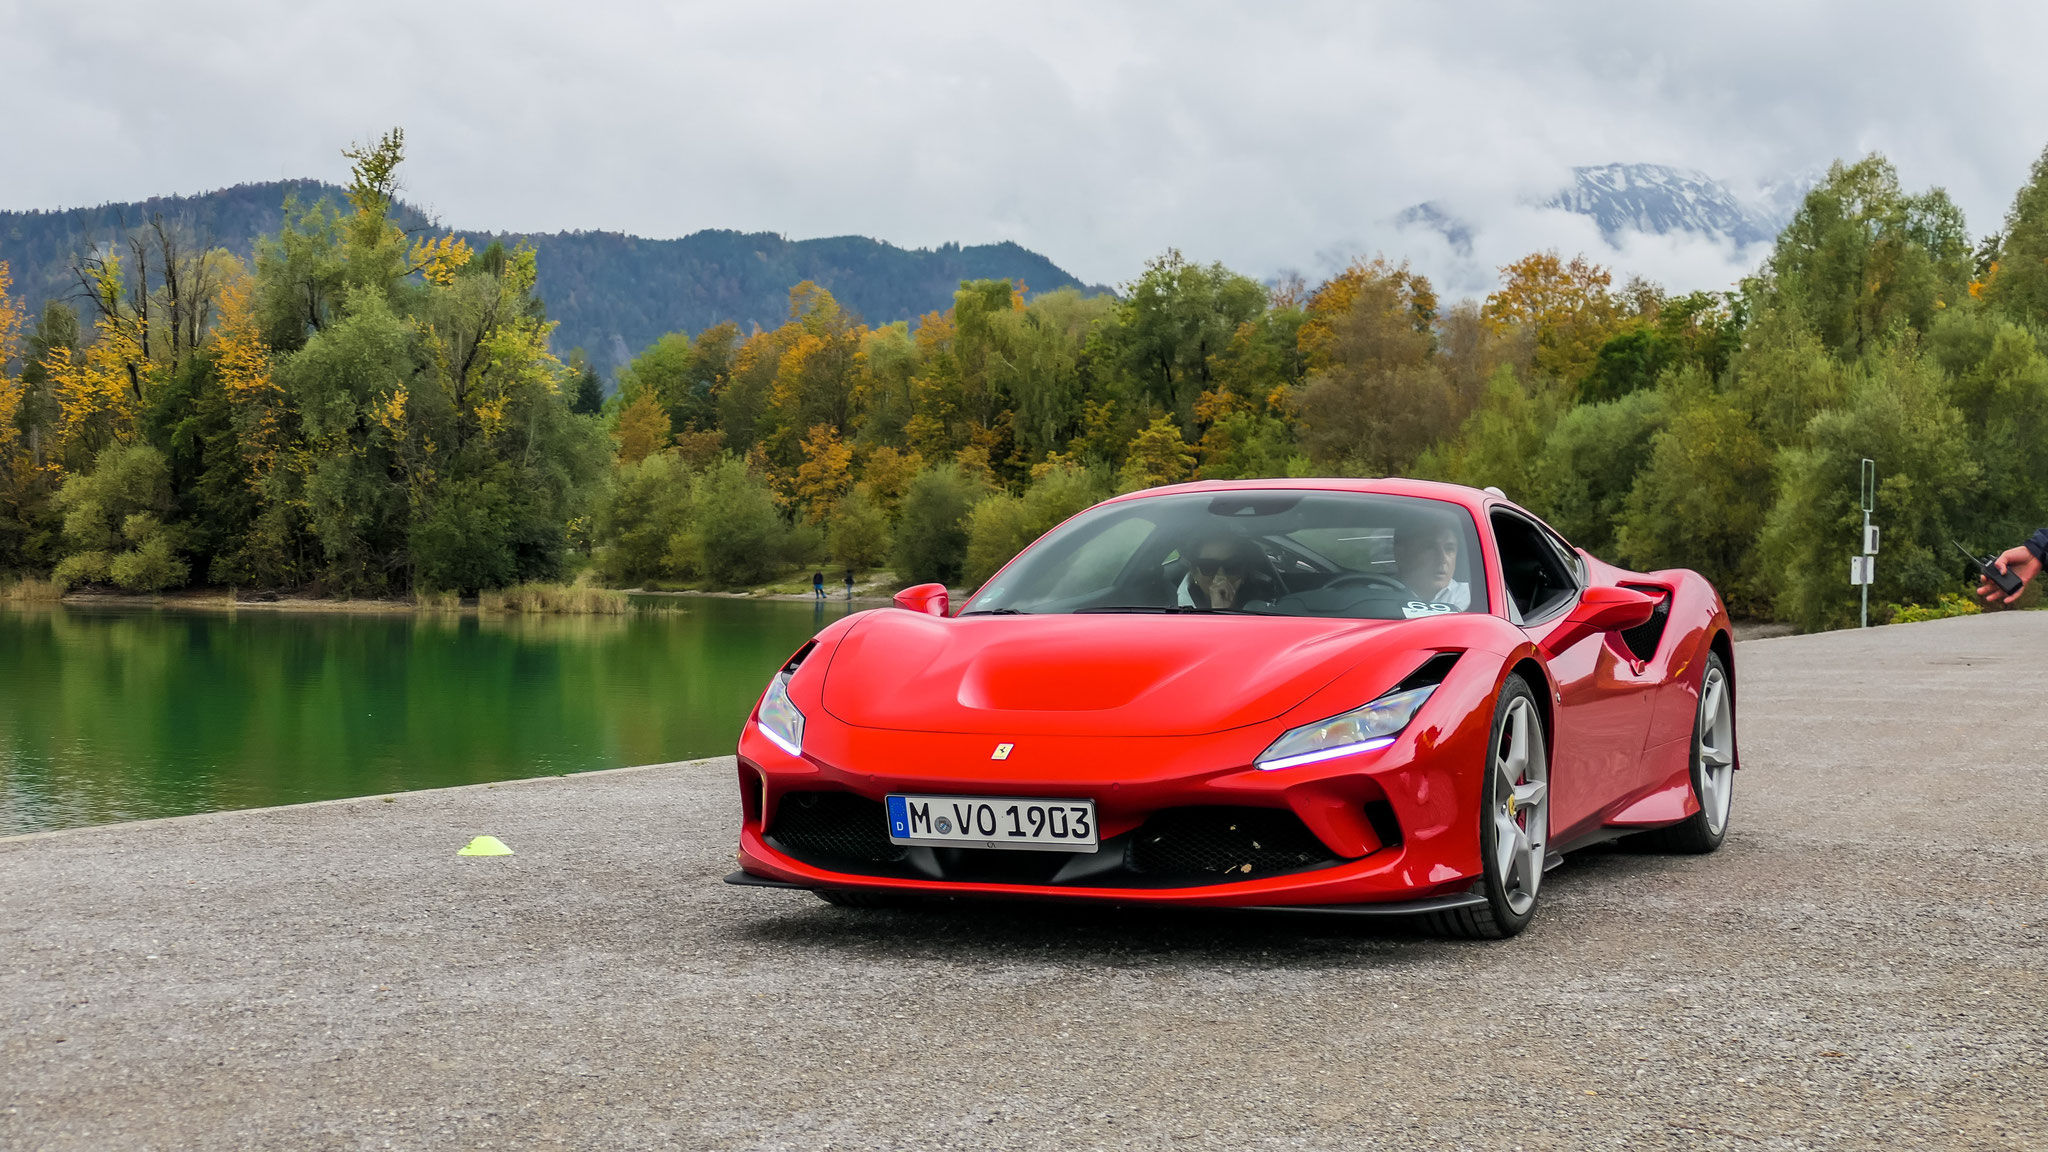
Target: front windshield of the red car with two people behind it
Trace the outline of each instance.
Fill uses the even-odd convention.
[[[1235,490],[1081,512],[961,615],[1200,613],[1413,619],[1487,611],[1479,533],[1448,500]]]

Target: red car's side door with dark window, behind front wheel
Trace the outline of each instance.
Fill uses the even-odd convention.
[[[1489,521],[1507,615],[1542,646],[1579,603],[1585,570],[1577,553],[1534,519],[1495,506]],[[1548,666],[1556,681],[1550,836],[1561,842],[1597,822],[1634,787],[1655,678],[1608,633],[1581,637],[1552,654]]]

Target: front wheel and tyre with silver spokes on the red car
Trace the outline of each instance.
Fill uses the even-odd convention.
[[[1444,935],[1499,941],[1536,916],[1550,842],[1550,744],[1542,709],[1522,676],[1507,676],[1493,705],[1487,781],[1479,789],[1479,855],[1485,904],[1438,912]]]

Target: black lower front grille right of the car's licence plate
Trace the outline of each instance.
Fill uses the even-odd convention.
[[[1169,808],[1130,840],[1130,869],[1157,879],[1225,883],[1337,863],[1282,808]]]

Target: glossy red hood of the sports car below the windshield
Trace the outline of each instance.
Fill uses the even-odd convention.
[[[1190,615],[940,619],[864,613],[823,705],[862,728],[1198,736],[1274,719],[1399,621]]]

